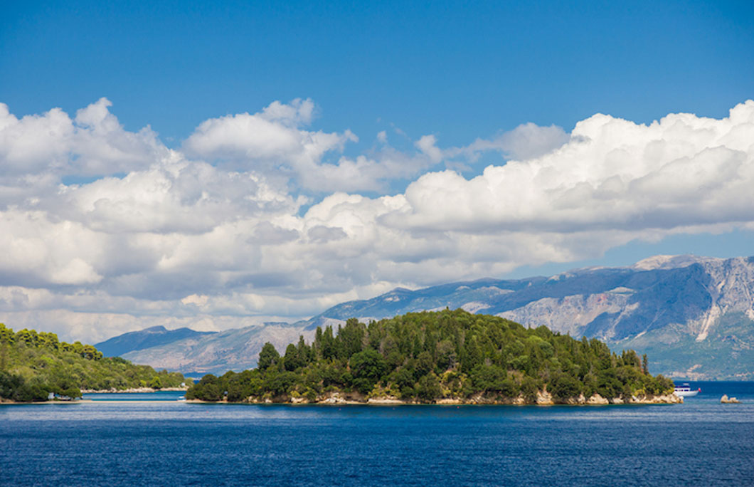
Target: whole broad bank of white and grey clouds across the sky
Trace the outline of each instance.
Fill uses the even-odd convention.
[[[633,239],[754,229],[751,100],[725,119],[597,114],[570,133],[525,124],[464,147],[426,134],[400,150],[381,132],[356,156],[347,128],[311,129],[311,100],[207,120],[179,149],[125,131],[110,107],[18,118],[0,104],[8,325],[88,341],[228,328]],[[450,169],[485,152],[499,163],[477,176]],[[395,180],[410,182],[385,194]]]

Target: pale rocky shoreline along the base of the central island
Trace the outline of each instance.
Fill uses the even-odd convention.
[[[566,402],[555,402],[553,396],[546,390],[539,391],[535,401],[527,401],[524,396],[517,396],[512,399],[492,398],[483,395],[471,396],[470,398],[440,398],[434,402],[406,401],[395,396],[372,396],[366,397],[359,393],[328,393],[318,396],[314,401],[305,397],[277,397],[277,398],[258,398],[249,397],[242,402],[228,402],[227,399],[221,401],[204,401],[201,399],[187,399],[186,402],[204,403],[204,404],[319,404],[319,405],[627,405],[627,404],[682,404],[683,398],[673,393],[661,394],[659,396],[631,396],[629,399],[615,397],[605,399],[599,394],[594,394],[589,398],[581,394],[578,397],[568,399]]]

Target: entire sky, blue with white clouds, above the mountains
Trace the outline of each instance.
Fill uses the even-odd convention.
[[[752,2],[155,3],[0,2],[11,328],[754,255]]]

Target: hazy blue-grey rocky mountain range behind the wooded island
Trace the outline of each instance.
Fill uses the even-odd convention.
[[[299,335],[310,339],[317,326],[338,325],[351,317],[368,322],[445,307],[598,338],[618,352],[633,348],[648,354],[655,374],[694,380],[754,379],[754,257],[658,255],[630,267],[590,267],[529,279],[480,279],[414,291],[396,288],[293,324],[266,323],[182,338],[161,334],[166,341],[143,347],[150,342],[141,340],[141,335],[154,329],[148,328],[103,344],[118,343],[118,350],[127,350],[127,342],[132,342],[139,348],[121,352],[122,356],[156,368],[222,373],[254,366],[265,341],[283,353]]]

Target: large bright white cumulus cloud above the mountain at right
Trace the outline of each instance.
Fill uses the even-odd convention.
[[[394,227],[489,231],[671,230],[749,220],[754,102],[727,119],[671,114],[650,125],[596,115],[544,156],[464,179],[425,174]]]

